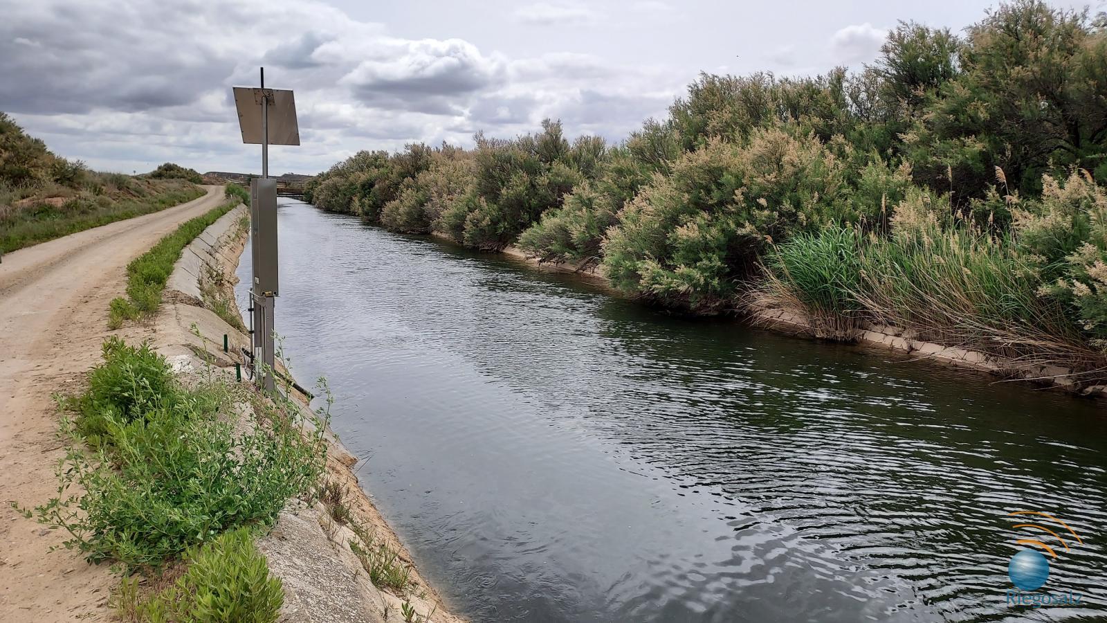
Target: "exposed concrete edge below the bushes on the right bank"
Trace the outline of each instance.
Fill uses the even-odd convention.
[[[523,249],[508,246],[504,255],[521,259],[546,270],[576,273],[590,280],[599,280],[607,287],[610,282],[603,275],[601,267],[594,263],[572,264],[566,262],[541,262]],[[752,321],[761,327],[790,335],[803,335],[809,338],[821,338],[817,324],[801,314],[786,309],[758,309],[751,314]],[[1107,386],[1089,385],[1080,375],[1070,368],[1061,366],[1034,366],[1027,368],[1015,360],[959,348],[944,346],[919,339],[908,329],[887,325],[867,323],[849,335],[836,336],[835,339],[857,343],[862,346],[891,350],[917,360],[931,360],[940,364],[968,368],[1002,377],[1006,380],[1022,380],[1051,389],[1073,391],[1082,396],[1107,399]]]

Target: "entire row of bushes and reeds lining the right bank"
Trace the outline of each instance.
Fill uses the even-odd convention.
[[[702,74],[623,143],[558,122],[473,149],[361,152],[308,185],[333,212],[598,266],[697,314],[786,310],[1103,380],[1107,30],[1002,3],[901,23],[859,71]]]

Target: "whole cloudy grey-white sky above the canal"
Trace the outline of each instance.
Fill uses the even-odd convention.
[[[256,172],[230,88],[265,65],[267,85],[296,91],[302,143],[272,147],[270,170],[315,173],[362,149],[470,144],[547,116],[619,140],[700,71],[859,68],[898,20],[960,30],[992,4],[0,0],[0,110],[100,170]]]

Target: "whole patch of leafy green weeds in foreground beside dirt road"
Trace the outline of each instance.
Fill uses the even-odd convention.
[[[90,563],[118,565],[125,620],[277,620],[281,582],[254,538],[290,499],[315,496],[324,412],[306,422],[211,369],[183,381],[149,345],[115,337],[61,406],[58,496],[25,513],[64,529]]]

